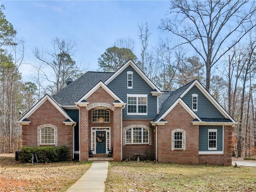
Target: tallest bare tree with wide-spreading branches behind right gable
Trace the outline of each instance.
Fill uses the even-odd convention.
[[[255,26],[255,1],[171,0],[170,18],[160,28],[189,44],[204,60],[206,89],[212,67]]]

